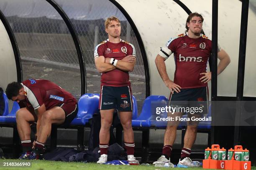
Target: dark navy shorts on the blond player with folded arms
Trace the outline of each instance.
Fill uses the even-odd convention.
[[[115,108],[121,112],[133,111],[131,86],[101,86],[99,109],[109,110]]]

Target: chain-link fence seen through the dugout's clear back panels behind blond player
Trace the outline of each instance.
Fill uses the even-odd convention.
[[[105,19],[114,15],[121,20],[121,38],[136,48],[137,63],[130,76],[142,79],[140,93],[145,94],[145,72],[141,51],[131,25],[120,10],[109,0],[56,2],[74,25],[82,47],[86,70],[95,74],[98,73],[94,64],[94,48],[108,38],[104,28]],[[46,0],[1,0],[0,9],[13,29],[22,62],[27,60],[42,63],[44,67],[51,64],[79,69],[77,51],[67,25]],[[87,77],[87,82],[88,80],[90,77]],[[97,81],[100,81],[100,76]]]

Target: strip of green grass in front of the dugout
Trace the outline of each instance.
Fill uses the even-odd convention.
[[[18,160],[0,160],[0,170],[169,170],[170,168],[159,168],[153,165],[99,165],[97,163],[67,163],[60,161],[31,160],[29,168],[3,168],[3,162],[17,162]],[[201,170],[202,168],[172,168],[172,170]],[[256,169],[256,167],[251,167]]]

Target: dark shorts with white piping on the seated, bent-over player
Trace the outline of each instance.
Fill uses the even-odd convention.
[[[78,105],[71,103],[61,103],[58,105],[65,112],[65,121],[62,125],[68,126],[77,117]]]

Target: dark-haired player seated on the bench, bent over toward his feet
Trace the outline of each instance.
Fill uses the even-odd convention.
[[[77,116],[77,100],[49,80],[12,82],[6,88],[6,95],[21,107],[16,113],[23,148],[19,159],[39,159],[51,134],[51,125],[69,125]],[[32,144],[30,125],[33,122],[36,122],[36,139]]]

